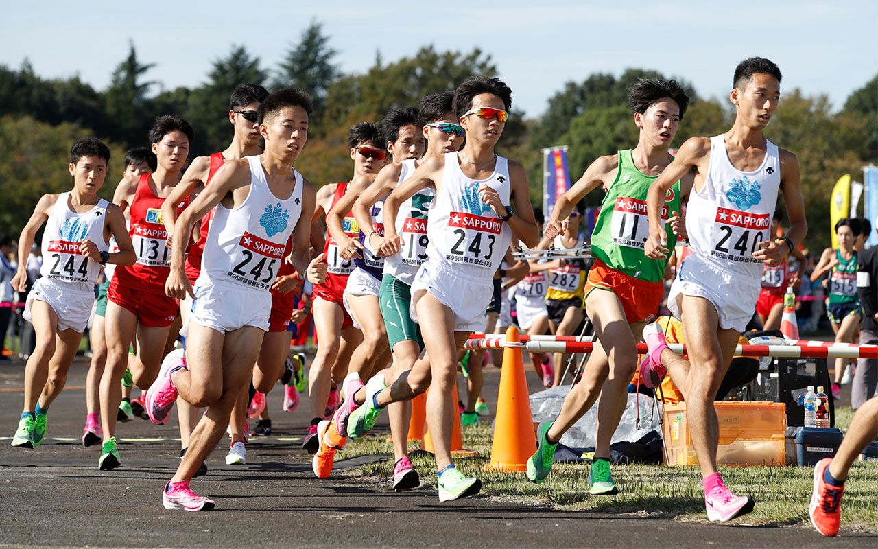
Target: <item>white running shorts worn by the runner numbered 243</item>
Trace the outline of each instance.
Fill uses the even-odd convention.
[[[414,294],[426,290],[454,313],[454,331],[485,331],[485,311],[491,302],[493,282],[491,278],[471,278],[444,265],[428,259],[421,264],[412,284],[412,305],[409,314],[417,322],[414,310]]]

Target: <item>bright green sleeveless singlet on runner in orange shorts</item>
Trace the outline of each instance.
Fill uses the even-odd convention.
[[[665,276],[667,259],[644,256],[644,244],[650,234],[646,218],[646,193],[659,176],[644,176],[634,165],[631,149],[619,151],[619,169],[601,203],[594,223],[592,255],[632,278],[659,282]],[[667,191],[662,208],[664,223],[671,212],[680,212],[680,182]],[[667,249],[673,249],[677,237],[666,225]],[[670,255],[669,255],[670,256]]]

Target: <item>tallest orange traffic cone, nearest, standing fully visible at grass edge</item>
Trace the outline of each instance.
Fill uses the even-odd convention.
[[[524,377],[521,339],[515,326],[506,330],[507,347],[503,350],[497,416],[494,420],[491,462],[488,471],[526,471],[530,456],[536,451],[534,423],[530,415],[528,382]]]

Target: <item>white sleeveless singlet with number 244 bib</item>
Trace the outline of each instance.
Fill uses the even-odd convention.
[[[59,282],[75,292],[95,291],[101,264],[79,253],[83,240],[97,244],[97,249],[108,249],[104,237],[107,206],[104,199],[86,213],[76,213],[68,206],[70,193],[62,192],[49,213],[43,231],[43,265],[40,275]]]

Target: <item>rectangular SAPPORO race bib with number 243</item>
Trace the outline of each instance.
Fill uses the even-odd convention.
[[[504,250],[494,246],[503,229],[500,218],[451,212],[448,226],[450,238],[443,243],[443,256],[448,261],[491,269],[502,256]]]

